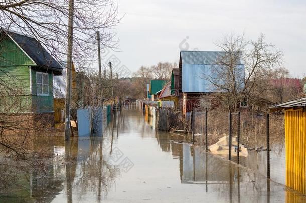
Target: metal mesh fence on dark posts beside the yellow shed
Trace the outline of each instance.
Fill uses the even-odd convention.
[[[283,115],[277,114],[271,114],[269,117],[267,131],[265,114],[241,112],[240,115],[232,113],[230,116],[227,112],[194,109],[195,139],[204,148],[209,148],[211,153],[234,162],[239,161],[239,164],[285,184],[284,118]],[[267,132],[269,132],[269,145],[267,145]],[[269,154],[267,148],[270,148]],[[238,149],[239,160],[237,160]]]

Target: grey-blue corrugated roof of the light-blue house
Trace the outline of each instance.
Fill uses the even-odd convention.
[[[226,57],[227,52],[220,51],[181,51],[181,58],[183,64],[218,64],[218,62]],[[242,65],[240,59],[237,65]]]

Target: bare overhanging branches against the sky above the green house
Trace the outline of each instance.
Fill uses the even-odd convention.
[[[1,27],[33,36],[58,60],[66,58],[68,0],[5,0],[0,3]],[[103,47],[115,47],[117,6],[112,0],[78,0],[74,3],[74,63],[89,67],[96,52],[95,32]]]

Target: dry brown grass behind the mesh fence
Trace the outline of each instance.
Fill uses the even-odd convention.
[[[200,133],[200,144],[205,145],[205,114],[196,114],[195,132]],[[229,134],[229,115],[227,112],[208,112],[208,145],[216,143]],[[238,135],[238,115],[232,115],[232,136]],[[266,117],[242,112],[240,118],[240,140],[248,148],[266,147]],[[284,141],[284,116],[270,115],[270,145]]]

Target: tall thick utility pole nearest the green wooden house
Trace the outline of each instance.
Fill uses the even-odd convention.
[[[66,101],[65,101],[65,140],[70,138],[70,99],[71,99],[71,70],[72,70],[72,46],[73,46],[73,13],[74,0],[69,0],[68,14],[68,48],[66,70]]]

